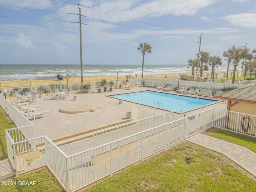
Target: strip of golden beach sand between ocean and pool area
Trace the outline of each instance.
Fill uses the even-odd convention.
[[[182,74],[188,74],[190,73],[182,73]],[[206,72],[204,72],[206,74]],[[179,77],[179,74],[158,74],[158,75],[144,75],[144,78],[173,78],[173,77]],[[141,78],[141,75],[138,75],[137,78]],[[101,81],[102,79],[106,80],[117,80],[117,76],[92,76],[92,77],[84,77],[84,82],[93,82],[93,81]],[[118,76],[119,80],[125,80],[126,76]],[[12,80],[12,81],[1,81],[2,87],[8,87],[8,86],[22,86],[22,85],[29,85],[30,82],[32,85],[38,85],[38,84],[57,84],[60,82],[57,78],[55,80]],[[66,82],[66,79],[63,80],[63,82]],[[74,82],[81,82],[81,78],[79,77],[70,77],[68,79],[68,82],[74,83]]]

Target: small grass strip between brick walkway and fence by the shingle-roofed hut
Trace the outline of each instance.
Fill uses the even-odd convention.
[[[230,143],[238,144],[256,152],[256,138],[216,128],[206,130],[202,132],[202,134],[206,134],[208,136],[212,136]]]

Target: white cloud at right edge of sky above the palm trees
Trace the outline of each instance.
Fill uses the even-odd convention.
[[[230,22],[235,26],[246,28],[256,28],[256,13],[241,13],[222,17],[222,19]]]

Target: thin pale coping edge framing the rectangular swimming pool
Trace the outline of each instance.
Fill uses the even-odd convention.
[[[132,93],[145,92],[145,91],[160,92],[160,91],[154,91],[154,90],[143,90],[143,91],[136,91],[136,92],[132,92]],[[202,106],[199,106],[199,107],[196,107],[196,108],[188,109],[188,110],[186,110],[186,111],[182,111],[182,114],[187,113],[187,112],[191,112],[191,111],[194,111],[194,110],[198,110],[198,109],[200,109],[200,108],[204,108],[204,107],[207,107],[207,106],[211,106],[211,105],[214,105],[214,104],[217,104],[217,103],[220,103],[220,102],[223,102],[223,100],[215,100],[215,99],[201,98],[201,97],[192,97],[192,96],[188,96],[188,95],[181,95],[181,94],[174,94],[174,93],[167,93],[167,92],[160,92],[160,93],[215,101],[215,102],[213,102],[213,103],[209,103],[209,104],[202,105]],[[113,96],[115,96],[115,95],[123,95],[123,94],[128,94],[128,93],[113,94],[113,95],[105,95],[105,96],[119,100],[120,98],[116,98],[116,97],[113,97]],[[131,103],[134,103],[134,104],[139,104],[139,105],[143,105],[143,106],[147,106],[147,107],[152,107],[152,108],[154,108],[154,106],[152,106],[152,105],[147,105],[147,104],[138,103],[138,102],[134,102],[134,101],[130,101],[130,100],[125,100],[125,99],[122,99],[122,100],[124,100],[124,101],[126,101],[126,102],[131,102]],[[165,108],[157,108],[157,109],[164,110],[164,111],[174,111],[174,110],[169,110],[169,109],[165,109]]]

